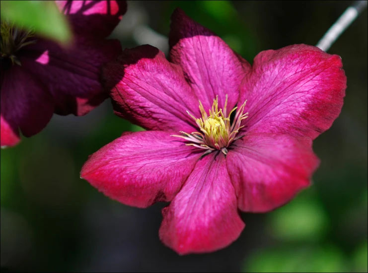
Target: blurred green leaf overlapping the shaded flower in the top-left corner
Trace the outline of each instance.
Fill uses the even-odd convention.
[[[18,27],[32,29],[36,34],[67,44],[72,33],[64,14],[54,1],[0,1],[1,20]]]

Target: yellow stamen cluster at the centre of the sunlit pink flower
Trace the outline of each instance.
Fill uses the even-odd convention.
[[[230,115],[237,107],[232,109],[228,114],[226,112],[227,95],[225,100],[225,106],[223,110],[219,109],[219,96],[216,96],[212,109],[209,109],[209,114],[205,111],[201,101],[199,101],[199,109],[201,110],[202,117],[196,118],[188,111],[187,113],[196,121],[200,132],[192,132],[191,134],[180,131],[182,135],[172,135],[175,137],[181,137],[192,143],[188,143],[188,146],[195,146],[201,149],[207,150],[205,154],[209,154],[212,151],[220,150],[224,155],[227,154],[227,147],[236,139],[239,129],[243,128],[241,122],[248,117],[248,113],[243,113],[246,101],[236,111],[234,120],[231,124]]]

